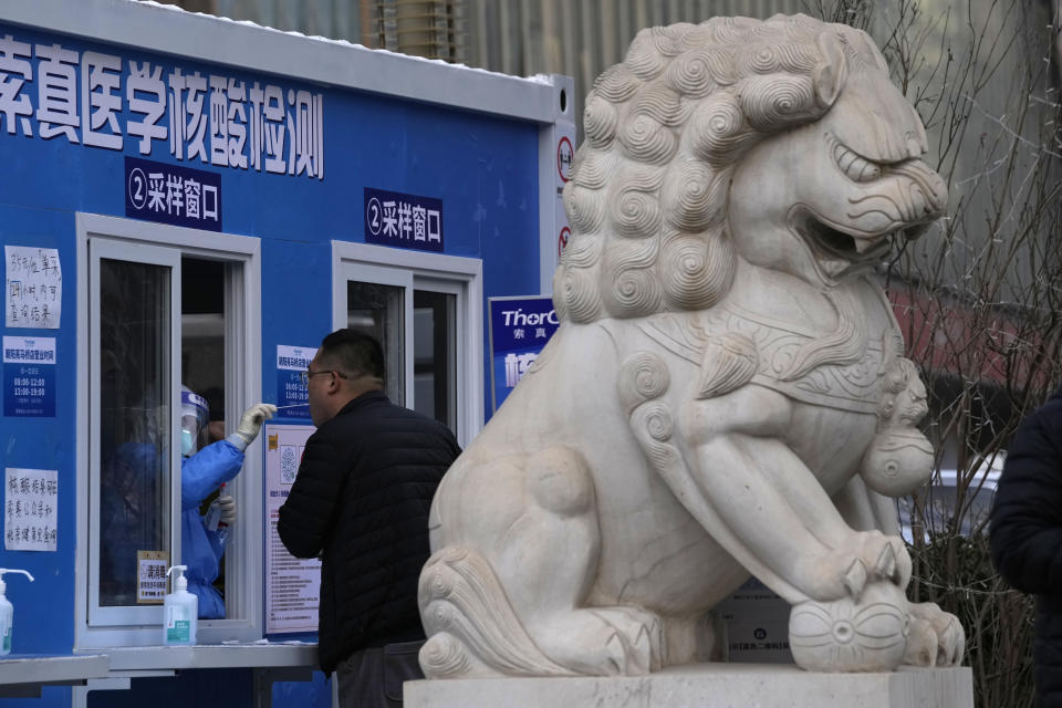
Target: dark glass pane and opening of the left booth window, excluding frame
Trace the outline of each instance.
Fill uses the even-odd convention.
[[[225,263],[180,264],[180,381],[204,396],[216,424],[201,431],[201,446],[225,437]],[[100,259],[100,604],[107,607],[144,604],[137,554],[168,556],[170,548],[170,278],[165,266]]]

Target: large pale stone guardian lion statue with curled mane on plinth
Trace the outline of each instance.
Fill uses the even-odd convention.
[[[905,596],[885,494],[933,449],[871,274],[947,189],[871,39],[804,15],[643,30],[584,129],[561,327],[431,507],[425,674],[707,660],[750,573],[806,669],[960,662],[956,618]]]

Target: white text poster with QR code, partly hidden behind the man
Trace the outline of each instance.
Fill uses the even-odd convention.
[[[321,561],[298,559],[277,533],[280,508],[295,481],[312,425],[267,424],[266,444],[266,634],[317,631]]]

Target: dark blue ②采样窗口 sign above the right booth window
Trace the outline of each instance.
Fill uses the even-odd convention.
[[[365,188],[365,242],[442,252],[442,200]]]

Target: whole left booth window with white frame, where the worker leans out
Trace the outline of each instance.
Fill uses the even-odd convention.
[[[222,439],[227,427],[235,429],[252,382],[260,377],[260,368],[249,371],[247,364],[259,360],[248,351],[257,337],[249,335],[247,312],[248,263],[257,258],[258,242],[108,217],[81,219],[108,228],[85,229],[81,247],[88,333],[86,352],[79,357],[87,378],[88,582],[79,645],[106,646],[118,636],[94,635],[93,627],[121,632],[123,644],[157,644],[158,605],[167,592],[162,573],[183,558],[180,389],[199,394],[210,409],[199,447]],[[233,244],[236,252],[225,248]],[[256,455],[248,450],[244,467]],[[240,499],[242,491],[237,508],[253,510],[248,501],[260,487],[249,482],[241,488],[243,477],[229,482],[226,493]],[[201,511],[212,498],[204,500]],[[215,627],[200,622],[200,637],[209,641],[214,632],[223,641],[257,633],[258,587],[249,582],[254,566],[243,561],[260,555],[253,540],[260,519],[253,511],[237,517],[215,583],[225,598],[226,620]],[[131,639],[131,632],[143,636]]]

